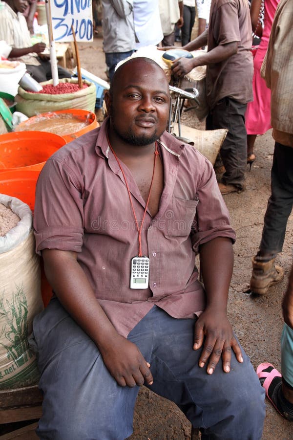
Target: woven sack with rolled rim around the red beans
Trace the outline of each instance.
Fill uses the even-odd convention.
[[[63,78],[60,83],[77,84],[78,79]],[[96,105],[96,86],[94,83],[83,80],[89,87],[82,88],[73,93],[61,93],[52,95],[49,93],[32,93],[19,87],[15,97],[16,110],[21,111],[29,118],[36,114],[48,111],[81,109],[94,112]],[[42,85],[53,84],[53,80],[46,81]]]

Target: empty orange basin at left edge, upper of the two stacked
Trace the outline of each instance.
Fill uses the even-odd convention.
[[[46,160],[66,141],[47,132],[11,132],[0,135],[0,172],[41,171]]]

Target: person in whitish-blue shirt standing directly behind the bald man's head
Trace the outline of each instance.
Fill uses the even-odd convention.
[[[135,48],[158,45],[164,38],[158,0],[133,0]]]

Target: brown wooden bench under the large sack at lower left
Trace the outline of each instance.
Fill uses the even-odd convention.
[[[14,390],[0,390],[0,424],[34,420],[42,416],[42,392],[38,385]],[[8,439],[38,439],[35,434],[37,423],[29,424],[0,436]]]

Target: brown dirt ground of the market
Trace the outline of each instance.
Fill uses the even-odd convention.
[[[82,67],[106,80],[102,42],[100,32],[92,43],[79,43],[79,51]],[[199,123],[192,110],[183,115],[183,123],[204,129],[204,124]],[[247,293],[251,277],[251,258],[260,242],[264,213],[270,196],[273,145],[271,130],[257,137],[257,159],[251,172],[247,168],[247,189],[242,194],[225,196],[225,202],[237,234],[230,285],[230,321],[254,368],[261,362],[269,361],[280,371],[280,336],[283,327],[281,301],[292,264],[293,215],[288,221],[283,252],[277,257],[277,263],[285,270],[285,279],[273,286],[266,296]],[[263,440],[293,439],[293,424],[279,416],[268,400],[266,408]],[[184,440],[189,437],[190,423],[181,411],[174,404],[142,387],[134,415],[134,432],[130,439]]]

